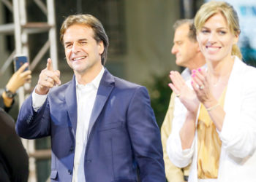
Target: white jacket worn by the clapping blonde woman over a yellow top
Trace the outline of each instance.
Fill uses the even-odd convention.
[[[190,80],[187,84],[190,85]],[[256,181],[256,68],[235,58],[225,95],[225,119],[219,138],[222,141],[218,182]],[[179,131],[187,109],[178,98],[167,154],[174,165],[192,162],[189,182],[197,181],[197,132],[191,149],[181,149]],[[198,114],[197,114],[198,115]],[[209,156],[210,157],[210,156]]]

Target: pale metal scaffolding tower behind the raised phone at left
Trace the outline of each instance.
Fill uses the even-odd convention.
[[[54,0],[46,0],[46,4],[41,0],[34,0],[42,14],[47,17],[47,22],[28,22],[28,13],[26,8],[26,0],[0,0],[7,9],[13,14],[13,23],[0,25],[0,33],[4,35],[13,34],[15,36],[15,50],[10,54],[0,69],[0,74],[4,74],[7,68],[12,65],[15,55],[26,55],[29,58],[29,35],[32,33],[48,32],[48,40],[39,50],[33,59],[29,59],[29,68],[31,71],[37,66],[42,57],[50,50],[50,58],[53,61],[53,68],[58,69],[57,42],[56,42],[56,18]],[[18,90],[19,106],[26,98],[26,90],[30,85],[22,87]],[[34,140],[23,140],[23,145],[29,154],[29,182],[37,181],[36,159],[50,159],[50,149],[36,150]]]

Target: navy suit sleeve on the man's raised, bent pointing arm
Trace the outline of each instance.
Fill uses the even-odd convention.
[[[20,137],[26,139],[42,138],[50,135],[48,99],[38,111],[34,111],[31,95],[24,101],[18,114],[16,132]]]

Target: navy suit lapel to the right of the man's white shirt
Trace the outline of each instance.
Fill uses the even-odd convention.
[[[89,130],[88,130],[89,135],[91,133],[92,127],[94,126],[94,123],[96,122],[100,112],[102,111],[102,108],[105,106],[105,103],[108,100],[108,97],[113,90],[114,82],[115,81],[113,76],[105,68],[105,72],[102,76],[102,80],[99,83],[99,89],[94,102],[94,108],[91,111],[91,119],[89,122]]]

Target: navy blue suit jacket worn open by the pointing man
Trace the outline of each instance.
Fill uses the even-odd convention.
[[[31,96],[20,108],[16,131],[22,138],[49,136],[51,181],[71,181],[75,156],[75,76],[50,90],[37,112]],[[145,87],[107,70],[99,84],[89,123],[84,160],[86,182],[165,182],[159,128]]]

